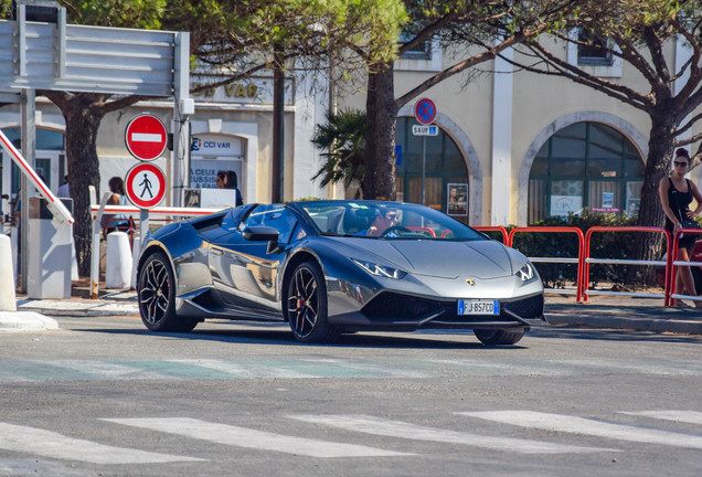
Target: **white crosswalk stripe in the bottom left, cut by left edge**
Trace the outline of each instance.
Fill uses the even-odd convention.
[[[0,423],[0,448],[93,464],[155,464],[202,460],[194,457],[157,454],[96,444],[51,431],[6,423]]]

